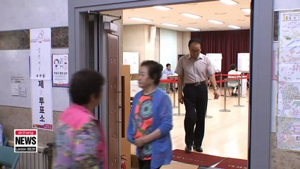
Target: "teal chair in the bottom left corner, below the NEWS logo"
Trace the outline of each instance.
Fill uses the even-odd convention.
[[[0,146],[0,164],[5,168],[15,169],[18,163],[20,154],[14,153],[13,149],[11,146]]]

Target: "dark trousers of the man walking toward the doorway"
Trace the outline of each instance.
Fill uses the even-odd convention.
[[[185,101],[185,144],[187,146],[202,146],[204,138],[205,115],[208,101],[206,84],[185,86],[183,89]],[[196,125],[196,127],[195,127]]]

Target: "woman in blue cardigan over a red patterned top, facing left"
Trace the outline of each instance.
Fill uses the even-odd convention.
[[[158,87],[161,74],[156,61],[140,65],[138,82],[142,91],[133,99],[127,127],[128,141],[137,146],[140,169],[161,168],[172,159],[172,104]]]

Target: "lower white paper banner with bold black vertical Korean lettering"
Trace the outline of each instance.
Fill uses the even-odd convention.
[[[32,127],[53,130],[52,82],[31,80]]]

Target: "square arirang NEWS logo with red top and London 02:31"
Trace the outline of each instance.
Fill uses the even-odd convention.
[[[15,129],[15,153],[37,152],[37,130]]]

